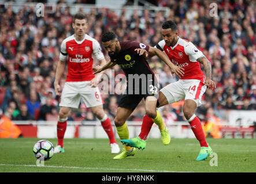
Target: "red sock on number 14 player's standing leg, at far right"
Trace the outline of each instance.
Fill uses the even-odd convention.
[[[208,147],[205,139],[205,133],[203,132],[201,121],[195,114],[190,118],[192,120],[188,120],[190,123],[190,127],[194,132],[196,139],[199,141],[201,147]]]

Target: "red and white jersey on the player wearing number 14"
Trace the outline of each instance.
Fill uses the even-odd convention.
[[[164,40],[159,41],[155,47],[165,51],[173,64],[184,68],[184,76],[180,79],[198,79],[203,81],[203,71],[201,70],[200,63],[196,60],[204,55],[190,41],[179,37],[173,47],[168,47]]]

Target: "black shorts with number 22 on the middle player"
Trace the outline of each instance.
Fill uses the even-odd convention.
[[[127,84],[127,89],[125,90],[125,94],[122,95],[118,107],[134,110],[142,98],[146,100],[147,97],[153,96],[158,99],[158,94],[159,85],[156,79],[149,79],[146,83],[140,83],[139,87],[133,85],[131,88]],[[158,104],[159,102],[157,101]]]

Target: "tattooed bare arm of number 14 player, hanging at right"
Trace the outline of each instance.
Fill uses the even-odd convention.
[[[212,80],[212,64],[210,61],[205,57],[199,57],[197,61],[203,64],[203,69],[205,70],[205,85],[207,88],[214,90],[216,88],[215,82]]]

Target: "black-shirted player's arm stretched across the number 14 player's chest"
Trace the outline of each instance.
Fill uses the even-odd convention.
[[[170,62],[169,58],[158,48],[150,47],[149,55],[157,55],[162,61],[164,61],[165,64],[167,64],[170,67],[170,71],[172,72],[173,78],[175,78],[174,74],[179,76],[179,78],[181,78],[181,76],[184,76],[184,68],[175,66],[175,64]]]

